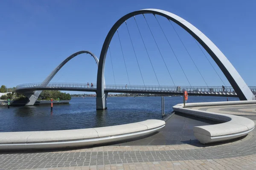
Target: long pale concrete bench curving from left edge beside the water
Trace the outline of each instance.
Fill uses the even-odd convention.
[[[79,147],[133,139],[163,128],[162,120],[75,130],[1,132],[0,150]]]

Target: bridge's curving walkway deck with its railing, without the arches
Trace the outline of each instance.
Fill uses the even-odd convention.
[[[28,93],[43,90],[59,91],[87,91],[96,92],[96,85],[87,86],[85,83],[28,83],[17,85],[18,93]],[[250,87],[251,91],[256,92],[256,87]],[[105,93],[140,93],[140,94],[170,94],[183,95],[183,91],[188,91],[190,96],[227,96],[237,97],[234,89],[226,87],[223,91],[221,86],[156,86],[156,85],[105,85]]]

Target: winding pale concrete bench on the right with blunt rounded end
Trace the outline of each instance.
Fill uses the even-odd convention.
[[[212,104],[210,104],[212,103]],[[227,102],[209,102],[209,103],[189,103],[186,107],[195,106],[206,106],[206,105],[227,105]],[[252,102],[233,102],[233,104],[245,104]],[[255,101],[254,101],[255,103]],[[250,131],[254,129],[254,122],[251,119],[247,119],[241,116],[235,116],[223,113],[214,113],[209,111],[200,111],[189,108],[183,108],[183,104],[178,104],[173,107],[176,112],[189,114],[192,116],[197,116],[205,119],[211,119],[218,122],[224,122],[216,125],[206,125],[206,126],[195,126],[193,131],[195,137],[199,142],[206,144],[211,142],[220,142],[230,139],[235,139],[240,136],[247,135]]]

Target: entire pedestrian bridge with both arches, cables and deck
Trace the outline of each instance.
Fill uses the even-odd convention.
[[[167,48],[165,51],[170,51],[167,53],[163,53],[163,50],[160,50],[162,48],[159,48],[158,44],[157,44],[157,40],[154,38],[154,31],[151,31],[151,26],[148,24],[148,21],[146,18],[148,18],[148,14],[152,14],[151,19],[156,20],[156,24],[159,26],[159,30],[157,32],[159,32],[163,37],[165,37],[165,39],[161,40],[161,42],[166,43],[167,44]],[[141,17],[144,18],[145,20],[145,27],[142,28],[139,27],[139,25],[137,24],[136,20],[137,16],[141,15]],[[200,79],[203,80],[203,82],[205,83],[206,86],[192,86],[191,83],[189,82],[189,76],[186,75],[186,73],[188,71],[184,71],[186,67],[186,65],[182,65],[180,63],[180,61],[186,61],[186,59],[184,58],[180,58],[180,54],[176,52],[176,50],[174,50],[172,43],[169,42],[169,38],[168,36],[166,36],[165,31],[162,29],[162,26],[160,24],[160,22],[158,22],[158,17],[164,17],[166,18],[166,22],[168,22],[168,25],[170,26],[170,28],[168,28],[168,30],[172,30],[174,31],[174,35],[177,38],[177,40],[181,43],[181,48],[183,49],[189,59],[189,61],[191,61],[195,67],[190,68],[190,70],[188,71],[192,71],[193,69],[196,70],[196,72],[198,73],[197,75],[199,77],[201,77]],[[133,22],[135,29],[138,31],[138,36],[136,36],[136,40],[134,40],[133,36],[131,36],[130,31],[131,28],[131,23],[126,22],[127,20],[133,20],[131,22]],[[143,21],[144,22],[144,21]],[[128,35],[128,39],[127,40],[120,40],[119,36],[119,27],[123,25],[124,27],[126,27],[125,32]],[[129,25],[129,27],[128,27]],[[212,69],[215,71],[215,73],[217,74],[217,76],[219,77],[218,79],[221,81],[221,85],[225,86],[225,90],[222,89],[222,87],[211,87],[207,84],[207,79],[204,78],[204,74],[202,74],[201,72],[204,71],[202,69],[200,69],[197,66],[197,62],[194,61],[194,57],[192,57],[192,54],[190,54],[188,48],[186,48],[186,43],[183,43],[182,38],[180,38],[178,31],[176,31],[174,25],[178,25],[180,26],[182,29],[184,29],[189,36],[192,36],[192,40],[193,43],[195,43],[195,45],[198,47],[198,50],[201,51],[201,55],[204,56],[207,61],[209,62],[209,65],[212,66]],[[154,50],[148,50],[149,47],[147,47],[148,45],[146,45],[146,41],[148,41],[147,39],[145,39],[145,37],[143,38],[141,32],[144,32],[144,29],[148,29],[149,30],[149,36],[152,37],[151,40],[153,41],[153,44],[157,49],[157,51],[159,53],[157,54],[152,54],[151,51]],[[123,31],[120,31],[120,34]],[[114,37],[114,34],[117,34],[118,36],[118,40],[119,40],[119,44],[120,44],[120,50],[121,50],[121,58],[123,58],[123,62],[124,62],[124,68],[126,71],[126,75],[127,75],[127,80],[125,80],[125,82],[127,82],[129,85],[116,85],[116,80],[115,80],[115,76],[114,76],[114,69],[113,69],[113,62],[112,62],[112,58],[111,58],[111,48],[110,48],[110,44],[112,41],[112,38]],[[137,50],[135,50],[134,46],[136,44],[134,44],[135,41],[141,40],[140,42],[142,42],[142,48],[138,48],[141,50],[145,50],[146,53],[144,53],[144,55],[146,56],[145,58],[143,58],[143,60],[138,60],[137,57],[138,56],[142,56],[142,54],[138,53]],[[134,63],[133,67],[137,64],[137,68],[140,72],[140,76],[141,76],[141,80],[143,82],[143,85],[131,85],[130,83],[130,78],[129,78],[129,74],[128,74],[128,69],[127,69],[127,65],[126,65],[126,61],[127,58],[131,58],[131,57],[127,57],[126,53],[124,53],[123,51],[123,45],[122,42],[127,41],[129,43],[131,43],[132,50],[129,51],[133,51],[134,52],[134,59],[133,60],[129,60],[129,62]],[[194,42],[195,41],[195,42]],[[117,42],[118,43],[118,42]],[[127,45],[127,43],[125,43],[125,45]],[[161,45],[161,44],[159,44]],[[153,47],[151,45],[151,47]],[[113,49],[116,49],[116,45],[114,45]],[[202,48],[204,48],[204,50],[209,54],[209,56],[213,59],[213,61],[218,65],[218,68],[220,68],[220,70],[222,71],[222,73],[224,74],[224,76],[227,78],[227,80],[229,81],[230,85],[232,87],[228,87],[225,85],[224,81],[221,79],[221,76],[218,74],[218,72],[216,71],[216,69],[214,68],[214,66],[212,65],[212,63],[209,61],[207,55],[204,53],[204,51],[202,50]],[[126,49],[126,48],[124,48]],[[107,57],[107,53],[109,51],[109,57],[111,59],[111,68],[113,71],[113,80],[114,80],[114,84],[115,85],[106,85],[105,84],[105,77],[104,77],[104,73],[105,73],[105,61],[106,61],[106,57]],[[162,52],[161,52],[162,51]],[[53,77],[55,77],[55,75],[57,74],[57,72],[67,63],[70,61],[70,59],[73,59],[74,57],[80,55],[80,54],[90,54],[90,56],[92,56],[95,59],[95,62],[97,64],[98,67],[98,71],[97,71],[97,82],[94,84],[95,86],[93,86],[93,88],[87,87],[87,84],[81,84],[81,83],[49,83]],[[131,54],[129,54],[131,55]],[[133,55],[133,54],[132,54]],[[166,55],[166,57],[169,57],[169,59],[173,58],[173,62],[172,60],[166,60],[163,55]],[[198,55],[198,54],[197,54]],[[118,55],[119,56],[119,55]],[[152,57],[157,57],[155,58],[155,61],[159,60],[162,63],[164,63],[165,70],[168,72],[169,74],[169,81],[172,83],[173,86],[163,86],[160,85],[159,82],[159,77],[157,77],[157,73],[155,71],[154,65],[151,62],[151,58]],[[199,55],[200,56],[200,55]],[[197,56],[197,58],[199,57]],[[125,59],[126,58],[126,59]],[[126,60],[126,61],[125,61]],[[140,61],[140,62],[139,62]],[[152,60],[154,61],[154,60]],[[144,82],[144,78],[145,75],[143,74],[143,71],[141,71],[141,67],[140,64],[147,64],[149,65],[149,67],[145,67],[147,70],[150,69],[154,73],[152,74],[153,77],[155,77],[155,80],[157,82],[157,86],[152,86],[152,85],[145,85]],[[169,66],[167,66],[167,64],[169,63]],[[202,63],[199,62],[199,64],[201,65]],[[169,68],[172,68],[172,65],[178,65],[180,66],[180,70],[182,70],[181,74],[179,75],[179,79],[184,79],[186,83],[188,83],[189,86],[178,86],[179,84],[182,84],[181,82],[175,82],[177,80],[175,80],[172,76],[173,74],[172,71],[169,71]],[[158,65],[158,67],[160,67],[160,65]],[[142,67],[143,68],[143,67]],[[201,71],[200,71],[201,70]],[[183,78],[180,76],[184,76]],[[144,77],[143,77],[144,76]],[[153,78],[152,77],[152,78]],[[164,77],[166,78],[166,77]],[[163,79],[163,77],[162,77]],[[192,78],[191,78],[192,79]],[[191,80],[190,79],[190,80]],[[215,80],[215,79],[214,79]],[[138,82],[138,81],[136,81]],[[49,84],[48,84],[49,83]],[[209,40],[209,38],[207,36],[205,36],[200,30],[198,30],[195,26],[193,26],[191,23],[187,22],[186,20],[184,20],[183,18],[172,14],[168,11],[163,11],[160,9],[143,9],[143,10],[138,10],[138,11],[133,11],[129,14],[126,14],[125,16],[121,17],[119,20],[116,21],[116,23],[112,26],[112,28],[110,29],[110,31],[108,32],[105,41],[102,45],[102,50],[100,53],[100,57],[99,59],[90,51],[78,51],[72,55],[70,55],[69,57],[67,57],[66,59],[64,59],[50,74],[49,76],[44,79],[43,82],[41,83],[29,83],[29,84],[23,84],[23,85],[18,85],[16,91],[19,93],[23,93],[27,96],[28,98],[28,102],[26,103],[26,105],[34,105],[35,101],[38,99],[38,97],[40,96],[41,92],[43,90],[60,90],[60,91],[88,91],[88,92],[96,92],[96,109],[97,110],[104,110],[107,108],[106,104],[107,104],[107,96],[108,93],[140,93],[140,94],[166,94],[166,95],[183,95],[183,91],[186,90],[188,91],[188,94],[191,95],[195,95],[195,96],[232,96],[232,97],[239,97],[240,100],[255,100],[256,96],[255,96],[255,91],[256,88],[255,87],[248,87],[247,84],[244,82],[244,80],[242,79],[242,77],[239,75],[239,73],[236,71],[236,69],[233,67],[233,65],[230,63],[230,61],[227,59],[227,57],[218,49],[218,47],[211,41]]]

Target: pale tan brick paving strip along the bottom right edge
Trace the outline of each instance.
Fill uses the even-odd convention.
[[[256,155],[227,159],[154,161],[77,167],[42,168],[41,170],[255,170]]]

